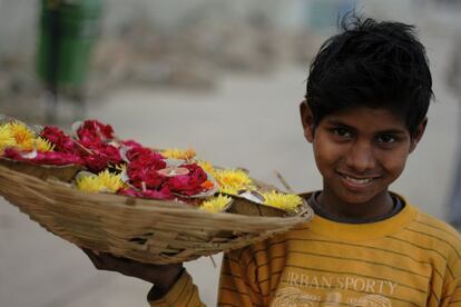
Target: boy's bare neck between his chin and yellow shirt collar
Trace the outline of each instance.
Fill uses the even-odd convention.
[[[327,188],[318,195],[317,202],[323,211],[337,219],[367,220],[382,217],[393,209],[393,200],[384,190],[365,202],[351,204],[342,201]]]

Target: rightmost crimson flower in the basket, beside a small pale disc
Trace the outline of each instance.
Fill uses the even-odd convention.
[[[202,187],[202,184],[208,178],[206,172],[196,164],[182,165],[180,167],[187,168],[189,174],[170,177],[165,185],[173,192],[185,196],[193,196],[204,191],[205,188]]]

